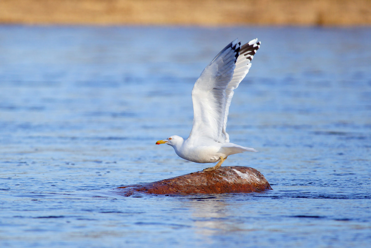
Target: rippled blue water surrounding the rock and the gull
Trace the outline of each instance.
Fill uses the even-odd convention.
[[[273,190],[134,195],[201,170],[190,92],[230,41],[262,46],[227,131]],[[1,247],[367,247],[371,29],[0,26]]]

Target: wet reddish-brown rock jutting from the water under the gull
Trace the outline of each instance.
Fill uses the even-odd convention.
[[[140,183],[116,188],[119,194],[159,195],[217,194],[256,192],[272,189],[265,177],[254,168],[223,166],[215,171],[198,171],[157,182]]]

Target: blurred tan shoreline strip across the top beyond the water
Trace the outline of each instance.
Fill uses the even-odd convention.
[[[0,23],[370,26],[371,0],[1,0]]]

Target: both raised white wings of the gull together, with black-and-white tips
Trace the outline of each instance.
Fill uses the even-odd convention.
[[[206,66],[192,89],[194,117],[188,139],[203,137],[229,142],[225,130],[233,90],[249,72],[259,45],[255,39],[241,46],[236,39]]]

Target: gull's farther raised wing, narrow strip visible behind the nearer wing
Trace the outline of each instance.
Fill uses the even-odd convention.
[[[260,42],[257,39],[250,40],[248,43],[241,46],[240,55],[237,57],[236,61],[236,68],[234,68],[234,73],[232,80],[229,82],[227,89],[226,89],[226,108],[224,111],[224,123],[223,123],[223,135],[226,138],[225,141],[229,142],[229,135],[226,132],[227,127],[227,120],[228,120],[228,113],[229,113],[229,106],[232,101],[232,97],[234,94],[234,89],[238,87],[242,79],[246,76],[249,72],[251,67],[251,60],[253,59],[256,51],[260,47]]]

